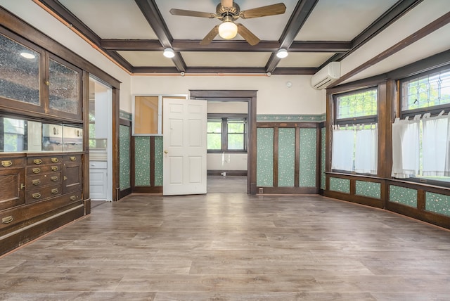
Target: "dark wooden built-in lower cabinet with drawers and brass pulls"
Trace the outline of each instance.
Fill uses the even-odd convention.
[[[0,255],[84,215],[82,160],[79,153],[0,155]]]

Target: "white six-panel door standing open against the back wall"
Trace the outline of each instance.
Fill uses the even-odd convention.
[[[207,101],[162,99],[162,194],[206,193]]]

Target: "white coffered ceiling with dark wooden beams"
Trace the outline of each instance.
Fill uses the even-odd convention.
[[[207,45],[200,41],[217,18],[172,15],[171,8],[215,13],[220,0],[33,0],[63,22],[75,27],[107,56],[131,74],[272,74],[313,75],[330,61],[344,60],[379,37],[394,23],[402,22],[423,0],[236,0],[241,11],[285,5],[285,13],[262,18],[239,18],[238,22],[259,39],[255,46],[237,37],[219,37]],[[435,0],[442,2],[442,0]],[[444,0],[446,1],[446,0]],[[428,1],[430,2],[430,1]],[[438,18],[438,16],[436,16]],[[406,20],[406,18],[405,18]],[[407,21],[404,21],[406,23]],[[410,21],[408,21],[410,22]],[[446,20],[447,24],[449,20]],[[424,26],[425,27],[425,26]],[[442,27],[442,26],[441,26]],[[440,28],[440,27],[439,27]],[[431,34],[430,30],[425,34]],[[444,34],[450,32],[447,25]],[[381,41],[381,50],[397,41]],[[430,37],[428,37],[430,39]],[[448,36],[447,36],[448,37]],[[416,41],[410,37],[410,44]],[[441,48],[449,49],[449,42]],[[165,48],[174,49],[174,58],[165,58]],[[278,49],[287,49],[287,58],[277,58]],[[422,57],[435,54],[420,46]],[[370,51],[369,51],[370,52]],[[390,54],[397,53],[393,51]],[[390,57],[390,56],[386,56]],[[419,58],[420,59],[420,58]],[[401,60],[390,60],[389,67],[366,68],[365,74],[398,68]],[[367,70],[369,69],[369,70]]]

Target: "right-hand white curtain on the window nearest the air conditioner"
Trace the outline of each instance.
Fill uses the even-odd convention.
[[[378,129],[356,129],[354,171],[364,174],[377,173]]]

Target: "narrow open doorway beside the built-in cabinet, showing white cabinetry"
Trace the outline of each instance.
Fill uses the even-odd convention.
[[[113,200],[113,89],[89,76],[89,197]]]

